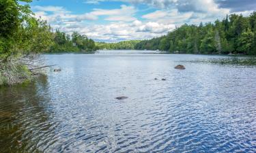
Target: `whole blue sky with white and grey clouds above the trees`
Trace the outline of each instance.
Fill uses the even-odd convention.
[[[31,9],[53,29],[117,42],[160,37],[184,23],[214,22],[227,14],[248,16],[256,0],[34,0]]]

